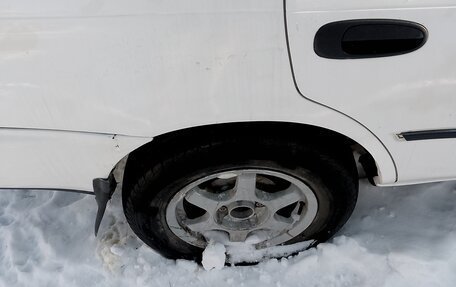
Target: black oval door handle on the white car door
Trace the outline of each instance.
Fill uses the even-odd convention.
[[[314,40],[317,55],[329,59],[361,59],[402,55],[421,48],[426,28],[418,23],[366,19],[326,24]]]

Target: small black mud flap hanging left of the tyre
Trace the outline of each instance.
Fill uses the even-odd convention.
[[[116,186],[117,182],[112,174],[107,179],[95,178],[93,180],[93,191],[98,205],[97,217],[95,219],[95,236],[98,234],[101,220],[103,219],[103,215],[106,211],[106,205],[116,190]]]

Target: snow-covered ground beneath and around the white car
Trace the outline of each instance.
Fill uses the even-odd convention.
[[[456,182],[374,188],[336,238],[298,256],[205,271],[129,229],[119,194],[98,238],[92,196],[0,191],[0,286],[456,286]]]

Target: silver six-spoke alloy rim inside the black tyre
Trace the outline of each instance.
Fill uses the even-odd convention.
[[[282,244],[309,227],[318,200],[303,181],[282,172],[237,169],[198,179],[177,192],[166,222],[181,240],[200,248]]]

